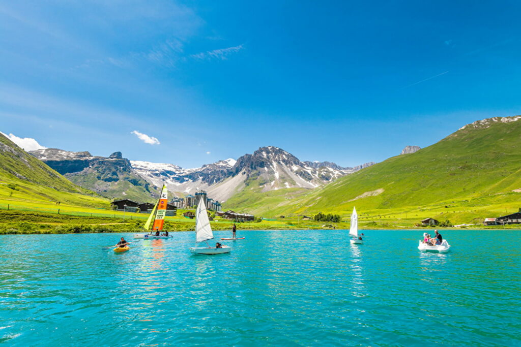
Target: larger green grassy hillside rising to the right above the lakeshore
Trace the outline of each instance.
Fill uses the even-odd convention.
[[[516,191],[521,188],[521,120],[514,119],[469,124],[435,145],[390,158],[301,196],[289,197],[281,190],[276,196],[233,197],[226,207],[240,206],[256,214],[343,215],[355,205],[373,214],[409,211],[409,215],[426,209],[455,213],[488,206],[493,207],[488,211],[502,210],[505,204],[513,208],[521,203],[521,190]]]

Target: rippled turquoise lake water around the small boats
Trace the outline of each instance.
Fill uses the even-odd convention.
[[[239,230],[213,256],[193,232],[121,254],[101,247],[132,234],[0,236],[0,343],[521,345],[521,232],[444,230],[447,254],[364,233]]]

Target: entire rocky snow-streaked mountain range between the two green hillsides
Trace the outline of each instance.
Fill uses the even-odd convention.
[[[178,196],[203,189],[218,201],[226,201],[246,187],[262,192],[314,189],[374,164],[343,168],[327,161],[303,162],[272,146],[259,148],[237,160],[220,160],[194,169],[169,163],[130,161],[122,158],[121,152],[109,157],[56,148],[30,153],[79,186],[108,198],[125,197],[138,201],[152,201],[157,196],[157,188],[163,184]]]

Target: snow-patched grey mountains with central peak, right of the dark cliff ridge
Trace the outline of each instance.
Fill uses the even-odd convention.
[[[316,188],[371,165],[342,168],[330,162],[302,162],[278,147],[262,147],[237,161],[221,160],[201,168],[183,169],[173,164],[131,161],[132,168],[157,187],[166,184],[179,195],[203,189],[208,196],[225,201],[249,187],[261,191],[284,188]]]

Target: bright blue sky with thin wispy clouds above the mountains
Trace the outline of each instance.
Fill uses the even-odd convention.
[[[183,167],[382,161],[521,113],[519,4],[3,2],[0,131]]]

